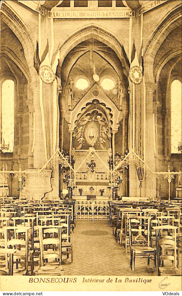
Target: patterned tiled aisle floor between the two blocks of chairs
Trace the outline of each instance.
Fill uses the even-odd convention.
[[[87,230],[103,230],[108,234],[82,234],[82,231]],[[124,246],[116,243],[108,221],[77,221],[71,242],[73,263],[63,265],[64,275],[157,275],[153,261],[148,266],[145,258],[137,258],[135,271],[131,271],[130,253],[125,254]]]

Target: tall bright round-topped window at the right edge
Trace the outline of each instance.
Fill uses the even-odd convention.
[[[181,82],[175,79],[171,83],[171,153],[181,153],[181,103]]]

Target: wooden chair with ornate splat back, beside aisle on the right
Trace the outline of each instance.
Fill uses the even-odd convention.
[[[147,258],[154,260],[156,270],[156,250],[151,247],[149,216],[129,217],[129,243],[130,243],[130,265],[134,271],[135,258]]]

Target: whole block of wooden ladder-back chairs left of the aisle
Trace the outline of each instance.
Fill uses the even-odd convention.
[[[27,201],[1,203],[0,254],[1,259],[5,258],[5,270],[0,273],[62,275],[62,261],[73,262],[73,205]],[[34,268],[36,261],[39,262],[37,270]]]

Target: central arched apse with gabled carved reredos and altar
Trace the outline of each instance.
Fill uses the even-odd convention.
[[[66,143],[62,147],[63,150],[66,147],[67,152],[69,150],[70,159],[73,157],[74,169],[79,168],[75,176],[77,196],[79,190],[83,191],[82,195],[89,195],[92,187],[97,198],[103,189],[103,196],[111,197],[109,169],[113,165],[115,153],[123,154],[127,142],[129,95],[124,72],[126,69],[124,71],[116,53],[96,39],[77,45],[62,64],[60,110],[65,123],[63,125],[61,119],[60,125]],[[99,80],[94,79],[94,73],[99,76]],[[85,86],[77,86],[79,79],[84,81]],[[104,87],[104,79],[111,81],[113,86]],[[123,145],[120,151],[115,150],[117,136],[120,147]],[[92,146],[97,150],[98,157],[90,155],[87,158]],[[74,156],[71,156],[72,151]],[[91,161],[96,164],[94,172],[88,167]]]

